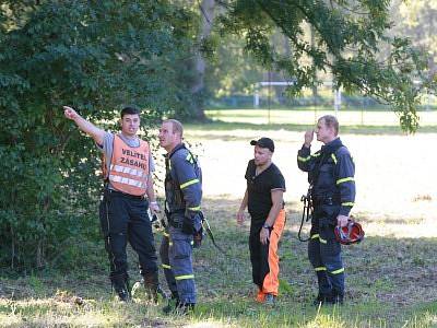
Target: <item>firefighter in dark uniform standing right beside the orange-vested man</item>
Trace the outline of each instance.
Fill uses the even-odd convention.
[[[200,203],[202,175],[196,156],[182,143],[182,125],[176,119],[163,121],[160,145],[165,155],[165,212],[167,227],[160,255],[172,300],[165,313],[187,313],[196,305],[192,269],[193,234],[201,230]]]

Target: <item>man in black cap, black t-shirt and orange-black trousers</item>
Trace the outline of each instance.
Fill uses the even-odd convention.
[[[243,224],[247,207],[251,219],[249,249],[252,279],[258,285],[257,301],[274,304],[280,269],[277,243],[285,225],[285,179],[272,163],[273,140],[261,138],[250,144],[255,145],[255,156],[247,165],[247,188],[237,212],[237,223]]]

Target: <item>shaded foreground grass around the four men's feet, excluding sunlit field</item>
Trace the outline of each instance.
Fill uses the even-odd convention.
[[[306,257],[306,244],[296,238],[297,213],[287,214],[282,238],[281,295],[276,306],[253,301],[248,224],[233,215],[237,201],[204,202],[205,213],[224,256],[208,238],[194,250],[199,306],[190,316],[165,316],[161,307],[120,304],[113,297],[104,266],[70,272],[43,271],[1,278],[0,326],[7,327],[434,327],[437,326],[437,238],[368,236],[344,247],[347,272],[346,304],[311,305],[316,280]],[[106,263],[103,245],[94,260]],[[130,253],[131,277],[139,279]],[[99,268],[99,269],[98,269]],[[86,272],[86,278],[84,278]],[[81,298],[79,298],[81,297]],[[78,301],[79,300],[79,301]],[[83,304],[80,302],[83,300]]]

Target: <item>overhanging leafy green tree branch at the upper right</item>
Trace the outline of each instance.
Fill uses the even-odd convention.
[[[434,87],[423,75],[426,58],[410,42],[388,37],[391,26],[389,1],[234,0],[220,19],[222,33],[240,35],[246,50],[264,67],[286,73],[296,96],[303,87],[318,85],[317,72],[330,71],[335,87],[362,91],[390,104],[401,127],[414,132],[420,91]],[[305,38],[304,24],[315,31],[315,43]],[[291,54],[279,52],[270,42],[277,27],[288,38]],[[390,48],[382,60],[382,46]],[[422,80],[415,85],[414,80]]]

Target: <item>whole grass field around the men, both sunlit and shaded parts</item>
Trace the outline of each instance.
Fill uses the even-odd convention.
[[[343,129],[342,140],[356,163],[357,199],[353,212],[366,239],[344,247],[346,304],[316,308],[316,280],[306,244],[296,238],[305,174],[296,168],[300,125],[215,122],[187,126],[186,140],[200,154],[203,209],[217,243],[194,250],[199,306],[190,316],[164,316],[161,306],[140,296],[132,304],[114,301],[107,282],[103,243],[86,249],[70,272],[42,271],[0,278],[0,326],[5,327],[437,327],[437,187],[434,127],[403,136],[394,127]],[[277,305],[253,302],[247,245],[248,222],[235,223],[245,190],[244,172],[252,156],[249,140],[276,143],[287,224],[280,248],[281,295]],[[315,144],[315,150],[319,144]],[[158,164],[160,166],[160,164]],[[161,174],[161,173],[160,173]],[[97,221],[96,221],[97,224]],[[307,231],[307,230],[306,230]],[[156,235],[158,237],[158,235]],[[131,276],[139,279],[130,253]],[[78,297],[83,300],[80,305]]]

